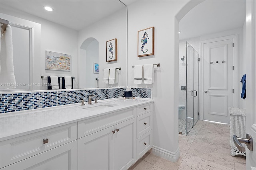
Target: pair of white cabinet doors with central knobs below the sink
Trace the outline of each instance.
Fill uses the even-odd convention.
[[[78,139],[79,170],[126,170],[135,162],[136,118]]]

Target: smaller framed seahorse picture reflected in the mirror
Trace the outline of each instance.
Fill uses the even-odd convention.
[[[106,42],[107,62],[117,61],[117,39],[111,39]]]

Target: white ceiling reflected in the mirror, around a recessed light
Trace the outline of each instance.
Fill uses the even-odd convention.
[[[54,11],[48,12],[43,6]],[[0,0],[1,11],[13,8],[77,31],[125,7],[118,0]]]

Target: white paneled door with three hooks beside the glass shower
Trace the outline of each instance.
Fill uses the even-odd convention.
[[[233,107],[233,39],[203,44],[204,120],[229,123]]]

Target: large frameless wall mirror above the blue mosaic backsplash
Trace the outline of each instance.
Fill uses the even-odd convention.
[[[14,74],[20,86],[12,90],[46,90],[47,76],[74,77],[74,88],[127,85],[127,7],[119,0],[1,0],[0,11],[14,32]],[[111,39],[117,39],[117,61],[106,62]],[[70,55],[70,70],[46,69],[46,51]],[[103,83],[103,70],[114,67],[121,68],[118,83]]]

